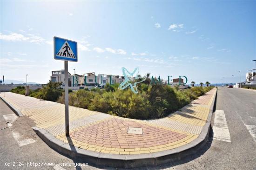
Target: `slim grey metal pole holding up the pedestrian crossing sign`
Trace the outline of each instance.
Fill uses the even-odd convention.
[[[66,136],[69,136],[69,120],[68,120],[68,66],[65,62],[65,130]]]

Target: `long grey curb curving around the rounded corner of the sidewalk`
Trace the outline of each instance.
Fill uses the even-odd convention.
[[[189,144],[182,145],[181,147],[166,151],[135,155],[106,154],[78,148],[72,145],[72,141],[69,141],[69,143],[67,144],[60,139],[56,139],[51,133],[47,132],[45,129],[39,128],[37,126],[32,127],[32,129],[48,146],[50,146],[55,151],[58,151],[61,154],[67,155],[72,158],[82,158],[88,163],[94,164],[96,166],[109,166],[115,168],[157,166],[176,160],[181,160],[183,157],[195,154],[206,144],[209,138],[210,123],[216,103],[216,94],[217,89],[214,94],[214,100],[212,101],[210,106],[207,121],[203,126],[202,132],[200,133],[198,138],[191,141]]]

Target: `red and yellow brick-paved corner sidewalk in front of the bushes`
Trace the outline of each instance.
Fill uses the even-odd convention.
[[[196,139],[206,123],[215,93],[216,88],[158,120],[132,120],[69,106],[69,139],[65,136],[63,104],[14,93],[5,93],[4,100],[65,143],[89,151],[132,155],[166,151]],[[129,127],[142,128],[143,133],[128,134]]]

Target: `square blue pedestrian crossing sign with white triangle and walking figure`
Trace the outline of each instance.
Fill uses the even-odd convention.
[[[77,42],[54,37],[54,59],[77,62]]]

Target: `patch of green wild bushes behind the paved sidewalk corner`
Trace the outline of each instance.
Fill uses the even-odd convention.
[[[41,89],[30,90],[29,96],[64,104],[64,90],[60,86],[61,83],[49,82]],[[105,89],[69,90],[69,105],[131,119],[157,119],[179,110],[214,88],[209,86],[180,90],[178,86],[145,81],[137,84],[139,93],[135,94],[129,88],[119,90],[118,86],[106,84]],[[25,94],[25,87],[18,86],[11,92]]]

